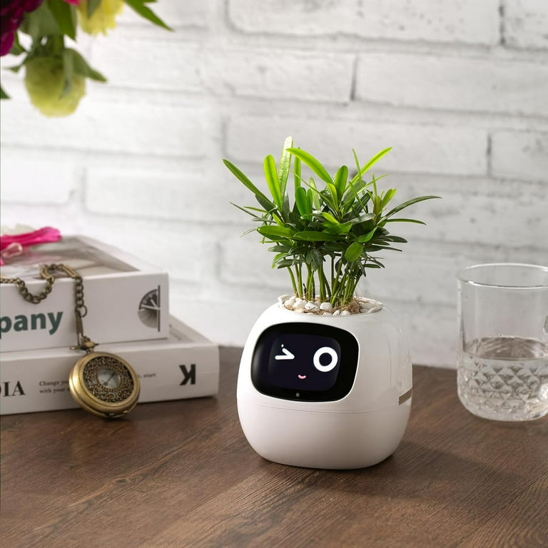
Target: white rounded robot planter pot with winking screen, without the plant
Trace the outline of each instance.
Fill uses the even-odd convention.
[[[411,395],[409,348],[387,308],[322,316],[275,304],[253,326],[238,374],[251,447],[300,467],[361,468],[392,455]]]

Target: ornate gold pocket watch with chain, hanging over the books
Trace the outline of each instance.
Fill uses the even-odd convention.
[[[54,273],[60,271],[74,280],[74,315],[76,319],[77,344],[71,350],[84,350],[68,377],[68,387],[73,399],[84,410],[104,418],[123,417],[136,406],[141,390],[139,377],[133,367],[120,356],[108,352],[95,352],[96,342],[83,334],[82,318],[88,312],[83,303],[83,280],[81,275],[68,265],[44,265],[40,269],[46,287],[33,295],[21,278],[0,278],[1,283],[14,283],[19,293],[29,303],[44,300],[54,285]]]

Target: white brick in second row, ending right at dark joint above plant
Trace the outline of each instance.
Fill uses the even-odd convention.
[[[276,49],[208,49],[205,86],[242,97],[350,101],[354,56]]]

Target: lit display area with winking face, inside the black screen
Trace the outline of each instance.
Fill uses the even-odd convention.
[[[321,335],[281,335],[273,341],[268,380],[290,390],[329,390],[340,370],[340,345]]]

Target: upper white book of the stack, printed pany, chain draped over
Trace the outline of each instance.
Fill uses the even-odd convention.
[[[40,266],[64,263],[83,278],[87,314],[83,330],[100,342],[161,339],[169,335],[168,274],[111,245],[83,236],[24,249],[0,268],[21,278],[33,294],[44,288]],[[29,303],[16,285],[0,285],[0,350],[33,350],[76,344],[74,281],[56,278],[51,293]]]

